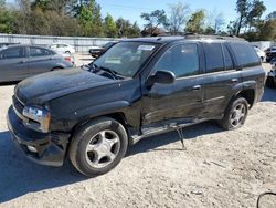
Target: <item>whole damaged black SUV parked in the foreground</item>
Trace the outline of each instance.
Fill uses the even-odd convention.
[[[125,40],[82,69],[19,83],[8,125],[25,155],[86,176],[114,168],[139,139],[215,119],[241,127],[264,92],[265,71],[244,40]]]

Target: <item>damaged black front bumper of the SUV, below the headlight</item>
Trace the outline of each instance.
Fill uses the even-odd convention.
[[[22,124],[12,106],[8,111],[7,122],[12,139],[29,159],[47,166],[63,165],[70,134],[45,134],[29,129]],[[30,152],[28,146],[34,147],[36,153]]]

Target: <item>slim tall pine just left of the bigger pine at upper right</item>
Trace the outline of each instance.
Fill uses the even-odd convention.
[[[246,15],[248,13],[248,1],[247,0],[237,0],[236,1],[236,11],[238,13],[238,20],[236,24],[236,35],[240,35],[241,29],[246,21]]]

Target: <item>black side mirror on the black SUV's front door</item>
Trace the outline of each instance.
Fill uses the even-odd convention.
[[[176,81],[176,75],[170,71],[157,71],[156,74],[149,76],[147,86],[152,86],[155,83],[172,84]]]

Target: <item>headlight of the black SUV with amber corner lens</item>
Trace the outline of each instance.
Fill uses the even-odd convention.
[[[28,118],[24,121],[26,127],[43,133],[49,132],[51,115],[47,110],[38,106],[25,106],[23,115]]]

